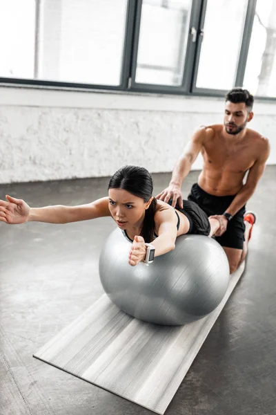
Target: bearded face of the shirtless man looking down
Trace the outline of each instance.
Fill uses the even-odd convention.
[[[224,127],[226,133],[235,136],[240,133],[246,124],[252,119],[253,112],[248,112],[248,107],[244,102],[233,104],[233,102],[226,101],[224,111]]]

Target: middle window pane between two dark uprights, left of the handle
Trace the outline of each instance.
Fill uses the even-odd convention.
[[[135,82],[182,84],[191,0],[144,0]]]

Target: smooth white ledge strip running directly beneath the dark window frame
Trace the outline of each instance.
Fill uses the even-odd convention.
[[[122,93],[117,91],[72,91],[45,86],[0,86],[1,106],[125,109],[222,113],[224,98]],[[256,100],[255,113],[275,115],[276,101]]]

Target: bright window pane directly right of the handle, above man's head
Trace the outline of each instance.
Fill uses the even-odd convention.
[[[246,8],[247,0],[208,1],[197,88],[225,90],[235,85]]]

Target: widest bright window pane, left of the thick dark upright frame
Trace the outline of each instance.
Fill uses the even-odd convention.
[[[119,85],[127,3],[126,0],[43,0],[38,77]]]

